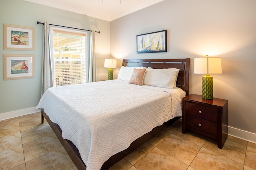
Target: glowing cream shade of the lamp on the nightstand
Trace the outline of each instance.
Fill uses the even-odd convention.
[[[194,59],[195,74],[221,74],[220,57],[205,57]]]

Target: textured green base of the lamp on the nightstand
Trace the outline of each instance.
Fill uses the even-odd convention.
[[[206,74],[202,78],[202,98],[213,99],[213,79],[210,74]]]

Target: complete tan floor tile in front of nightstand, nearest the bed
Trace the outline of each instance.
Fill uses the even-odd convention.
[[[188,140],[171,134],[164,139],[157,148],[189,165],[201,147],[189,142]]]

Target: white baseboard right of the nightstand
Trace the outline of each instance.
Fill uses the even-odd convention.
[[[228,127],[228,135],[256,144],[256,134],[234,127]]]

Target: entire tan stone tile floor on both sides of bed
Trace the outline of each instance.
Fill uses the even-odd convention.
[[[256,144],[228,136],[215,140],[187,130],[178,120],[110,170],[256,170]],[[76,170],[40,112],[0,121],[0,170]]]

